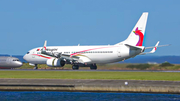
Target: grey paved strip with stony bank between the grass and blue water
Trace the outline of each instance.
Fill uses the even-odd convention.
[[[1,91],[90,91],[180,94],[180,81],[0,79]]]

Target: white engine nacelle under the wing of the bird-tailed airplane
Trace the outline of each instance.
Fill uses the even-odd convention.
[[[65,65],[65,61],[61,59],[48,59],[46,61],[46,64],[50,67],[63,67]]]

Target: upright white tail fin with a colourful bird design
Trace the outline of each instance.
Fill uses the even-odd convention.
[[[120,43],[129,44],[129,45],[133,45],[133,46],[142,46],[143,40],[144,40],[144,35],[145,35],[147,18],[148,18],[148,12],[144,12],[141,15],[140,19],[138,20],[138,22],[136,23],[133,30],[131,31],[128,38],[125,41],[120,42]],[[118,44],[120,44],[120,43],[118,43]]]

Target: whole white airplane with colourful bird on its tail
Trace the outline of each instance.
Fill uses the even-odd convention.
[[[79,67],[90,67],[97,69],[96,64],[107,64],[118,61],[124,61],[137,55],[154,53],[159,41],[153,47],[144,47],[144,35],[148,18],[148,12],[144,12],[128,38],[115,45],[98,46],[46,46],[34,48],[24,55],[24,59],[38,69],[37,64],[47,64],[50,67],[63,67],[65,64],[71,64],[73,70]],[[144,52],[152,48],[150,52]]]

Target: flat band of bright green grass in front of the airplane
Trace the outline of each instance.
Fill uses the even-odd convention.
[[[109,72],[109,71],[0,71],[0,78],[14,79],[113,79],[180,81],[174,72]]]

